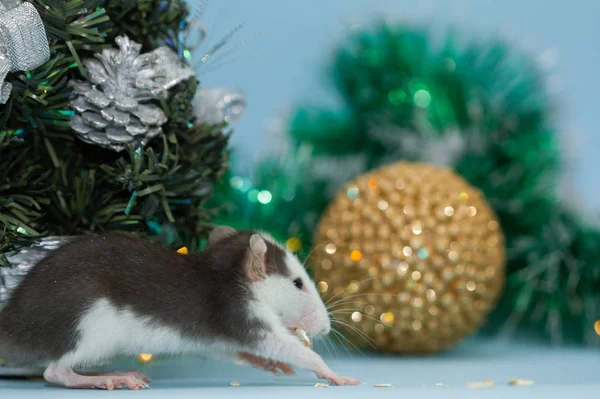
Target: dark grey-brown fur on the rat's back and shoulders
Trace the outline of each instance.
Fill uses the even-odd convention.
[[[254,233],[238,232],[187,256],[114,233],[75,239],[33,267],[0,311],[0,357],[59,359],[76,346],[78,321],[101,298],[189,338],[253,345],[266,328],[246,306]],[[285,255],[267,242],[267,273],[289,275]]]

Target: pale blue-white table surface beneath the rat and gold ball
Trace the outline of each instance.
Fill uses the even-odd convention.
[[[193,359],[160,360],[138,367],[153,380],[146,391],[65,390],[43,381],[0,379],[0,398],[599,398],[600,351],[550,348],[470,339],[455,350],[429,357],[346,353],[324,357],[333,370],[359,378],[358,387],[316,388],[307,371],[276,377],[248,367]],[[343,352],[343,354],[342,354]],[[534,386],[509,386],[511,379],[530,379]],[[493,380],[492,388],[470,389],[467,382]],[[239,381],[241,386],[230,387]],[[373,384],[391,383],[390,388]]]

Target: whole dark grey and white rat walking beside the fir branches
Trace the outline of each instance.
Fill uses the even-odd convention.
[[[276,374],[336,375],[294,335],[329,333],[329,316],[299,260],[268,234],[217,227],[208,248],[181,255],[115,233],[51,252],[0,311],[0,355],[46,367],[69,388],[147,387],[138,372],[78,374],[119,355],[198,354]]]

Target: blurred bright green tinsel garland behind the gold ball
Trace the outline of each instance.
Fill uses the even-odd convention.
[[[504,43],[457,42],[449,33],[436,45],[405,25],[352,34],[331,69],[345,108],[298,110],[289,152],[260,163],[252,181],[229,176],[220,187],[221,222],[299,238],[306,255],[345,181],[401,159],[443,163],[482,189],[506,234],[507,286],[487,329],[598,345],[600,231],[559,201],[542,74]]]

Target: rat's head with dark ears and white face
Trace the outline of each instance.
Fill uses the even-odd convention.
[[[261,303],[275,311],[286,328],[303,329],[310,337],[329,333],[331,323],[327,309],[294,254],[266,233],[237,232],[225,226],[212,231],[210,245],[226,239],[243,240],[247,244],[244,262],[253,291]]]

